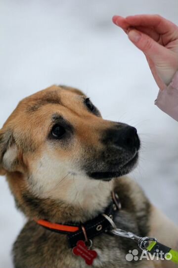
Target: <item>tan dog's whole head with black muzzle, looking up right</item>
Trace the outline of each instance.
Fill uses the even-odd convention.
[[[81,91],[51,86],[23,99],[0,130],[0,172],[25,178],[38,196],[60,197],[69,185],[129,173],[139,145],[135,128],[103,120]]]

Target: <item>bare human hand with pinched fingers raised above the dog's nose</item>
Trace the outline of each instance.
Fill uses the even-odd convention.
[[[154,79],[163,90],[178,70],[178,26],[160,15],[114,16],[113,22],[145,54]]]

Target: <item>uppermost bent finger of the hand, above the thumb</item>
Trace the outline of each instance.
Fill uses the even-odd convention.
[[[153,27],[158,33],[166,34],[168,32],[178,31],[176,24],[163,18],[160,15],[134,15],[126,17],[126,22],[132,26],[150,26]]]

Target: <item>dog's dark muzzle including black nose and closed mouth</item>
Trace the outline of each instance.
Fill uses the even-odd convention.
[[[101,142],[104,150],[94,157],[92,166],[88,164],[88,176],[109,181],[114,177],[128,174],[138,160],[140,140],[137,130],[126,124],[115,124],[103,133]]]

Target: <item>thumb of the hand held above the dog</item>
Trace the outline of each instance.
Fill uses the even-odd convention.
[[[154,62],[163,60],[164,56],[167,55],[168,51],[166,48],[142,32],[131,30],[128,33],[128,37],[138,49],[150,57]]]

